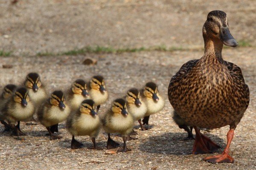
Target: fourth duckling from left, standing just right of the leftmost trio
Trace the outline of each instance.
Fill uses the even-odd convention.
[[[53,133],[56,132],[58,123],[65,121],[70,114],[70,108],[65,103],[63,92],[54,91],[38,110],[38,120],[48,130],[51,140],[62,138],[54,136]]]

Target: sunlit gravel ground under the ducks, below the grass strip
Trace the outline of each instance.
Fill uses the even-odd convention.
[[[123,54],[87,54],[87,56],[59,57],[2,57],[0,63],[12,64],[13,68],[0,68],[1,87],[6,83],[23,82],[30,71],[41,74],[42,81],[49,92],[55,89],[67,89],[77,78],[89,79],[94,74],[102,74],[110,98],[99,111],[102,115],[110,107],[111,101],[123,96],[131,87],[141,88],[147,81],[155,81],[160,92],[166,98],[163,111],[150,119],[152,129],[138,132],[138,140],[129,141],[131,152],[105,155],[107,135],[100,133],[97,138],[104,150],[88,150],[91,146],[89,137],[78,137],[84,143],[80,150],[71,150],[71,135],[60,125],[61,140],[50,141],[47,130],[42,125],[21,124],[21,129],[28,134],[25,137],[9,136],[0,133],[0,169],[255,169],[255,48],[224,49],[224,59],[239,65],[245,81],[250,88],[250,105],[235,131],[231,144],[234,164],[210,164],[201,159],[205,155],[192,155],[193,141],[184,141],[186,133],[180,130],[172,120],[172,106],[167,99],[169,80],[180,66],[190,60],[199,58],[203,51],[175,52],[140,52]],[[93,66],[82,65],[86,57],[98,59]],[[250,62],[248,62],[250,61]],[[30,63],[33,63],[30,64]],[[137,126],[138,128],[139,126]],[[207,136],[221,145],[226,145],[229,127],[205,132]],[[3,127],[0,128],[0,131]],[[114,137],[120,143],[120,137]],[[218,153],[221,153],[221,150]]]

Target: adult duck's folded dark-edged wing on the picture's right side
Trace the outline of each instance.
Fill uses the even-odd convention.
[[[250,102],[250,91],[248,85],[244,82],[244,77],[241,68],[232,62],[225,61],[233,82],[236,84],[237,92],[241,95],[243,102],[246,103],[245,109],[248,107]]]

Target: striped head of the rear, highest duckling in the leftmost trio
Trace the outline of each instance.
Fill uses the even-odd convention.
[[[34,92],[38,91],[41,87],[40,76],[37,73],[29,73],[26,77],[25,86],[27,88],[32,88]]]

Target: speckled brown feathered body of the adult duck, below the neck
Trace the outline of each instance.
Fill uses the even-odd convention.
[[[236,128],[250,101],[241,69],[209,55],[186,62],[172,77],[168,96],[182,119],[207,128]]]

